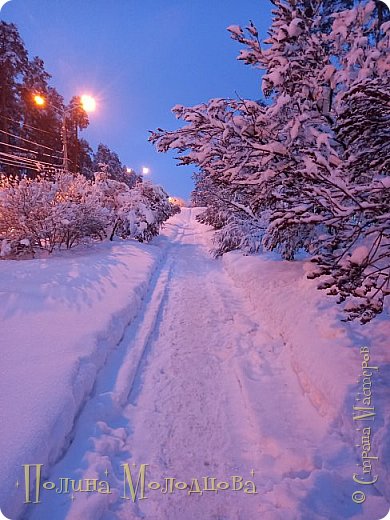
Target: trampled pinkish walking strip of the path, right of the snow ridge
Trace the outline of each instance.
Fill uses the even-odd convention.
[[[142,392],[125,411],[134,425],[132,457],[149,463],[150,480],[159,482],[250,478],[255,468],[259,495],[155,492],[136,508],[122,503],[115,518],[297,520],[294,504],[310,487],[313,448],[326,430],[316,424],[281,338],[262,330],[242,292],[200,245],[204,233],[196,227],[177,252]]]

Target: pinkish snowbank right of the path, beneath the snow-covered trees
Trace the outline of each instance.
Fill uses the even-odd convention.
[[[361,448],[357,446],[361,434],[359,437],[357,428],[366,426],[372,428],[371,455],[378,456],[373,472],[379,479],[375,486],[360,487],[367,488],[367,494],[372,495],[367,501],[371,506],[376,501],[378,511],[387,511],[386,501],[383,502],[380,495],[390,503],[388,309],[364,326],[345,323],[341,321],[343,315],[335,299],[317,290],[317,281],[306,278],[308,262],[281,261],[271,254],[243,256],[238,252],[224,255],[222,262],[235,284],[247,294],[256,314],[261,316],[264,330],[272,338],[282,340],[283,348],[272,357],[272,363],[291,366],[291,377],[297,378],[303,394],[317,410],[318,418],[322,417],[329,425],[323,445],[327,457],[310,477],[314,498],[308,497],[306,506],[312,511],[312,517],[322,514],[324,518],[339,518],[343,507],[347,507],[345,504],[353,505],[349,495],[344,503],[332,506],[340,487],[334,471],[337,468],[338,478],[342,475],[341,489],[354,489],[352,475],[359,469],[350,461],[355,457],[354,462],[362,464]],[[364,406],[360,352],[364,346],[369,349],[371,365],[379,367],[370,378],[372,406],[376,412],[373,422],[353,420],[352,407]],[[323,501],[319,496],[323,496]],[[348,507],[344,511],[345,518],[357,518],[356,511]],[[373,518],[364,514],[366,504],[362,507],[363,516],[358,517]],[[303,510],[302,517],[305,514],[308,513]]]

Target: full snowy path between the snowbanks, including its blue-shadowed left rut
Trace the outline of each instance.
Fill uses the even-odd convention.
[[[165,230],[166,257],[138,317],[101,372],[73,441],[48,480],[106,480],[112,494],[43,490],[29,520],[294,520],[315,452],[327,435],[281,337],[262,330],[191,210]],[[324,448],[325,449],[325,448]],[[148,464],[148,482],[165,477],[252,480],[258,494],[187,490],[124,500],[123,464]],[[291,510],[290,510],[291,508]],[[295,512],[291,512],[295,509]],[[314,517],[313,517],[314,518]],[[319,517],[318,517],[319,518]]]

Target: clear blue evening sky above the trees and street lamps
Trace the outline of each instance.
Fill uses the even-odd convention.
[[[171,108],[213,97],[260,97],[259,72],[236,60],[226,27],[253,20],[264,37],[268,0],[12,0],[1,19],[19,28],[65,97],[98,100],[82,135],[118,153],[172,195],[188,197],[191,167],[159,154],[148,130],[179,126]]]

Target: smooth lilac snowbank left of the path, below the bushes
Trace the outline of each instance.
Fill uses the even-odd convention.
[[[97,244],[0,263],[0,506],[15,517],[23,464],[62,454],[107,355],[134,318],[161,249]]]

